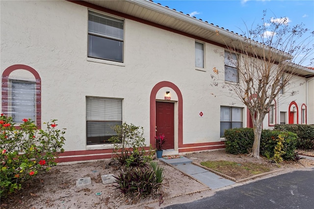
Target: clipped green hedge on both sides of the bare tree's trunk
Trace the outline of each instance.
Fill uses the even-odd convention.
[[[262,130],[260,154],[265,156],[269,152],[274,156],[274,148],[277,144],[276,138],[279,134],[284,135],[285,160],[293,159],[297,135],[288,131]],[[253,147],[254,132],[251,128],[230,129],[225,131],[226,152],[231,154],[249,154]]]

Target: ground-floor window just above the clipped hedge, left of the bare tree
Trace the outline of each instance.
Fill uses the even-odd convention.
[[[220,137],[225,130],[243,128],[242,107],[220,106]]]

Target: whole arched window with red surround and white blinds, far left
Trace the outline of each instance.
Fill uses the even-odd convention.
[[[41,78],[27,65],[12,65],[2,73],[2,113],[19,125],[31,118],[41,128]]]

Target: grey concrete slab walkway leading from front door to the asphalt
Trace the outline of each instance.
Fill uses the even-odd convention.
[[[211,173],[204,168],[201,168],[197,165],[192,164],[192,160],[186,157],[174,158],[174,159],[165,159],[161,157],[158,159],[164,161],[167,164],[174,166],[181,172],[209,186],[209,188],[211,189],[217,189],[217,188],[221,188],[221,187],[228,186],[235,183],[231,180],[225,179],[221,176]]]

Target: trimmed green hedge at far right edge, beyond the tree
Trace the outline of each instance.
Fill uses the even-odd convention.
[[[301,125],[301,124],[285,124],[275,125],[275,130],[290,131],[296,133],[297,145],[296,148],[301,150],[314,149],[314,125]]]

